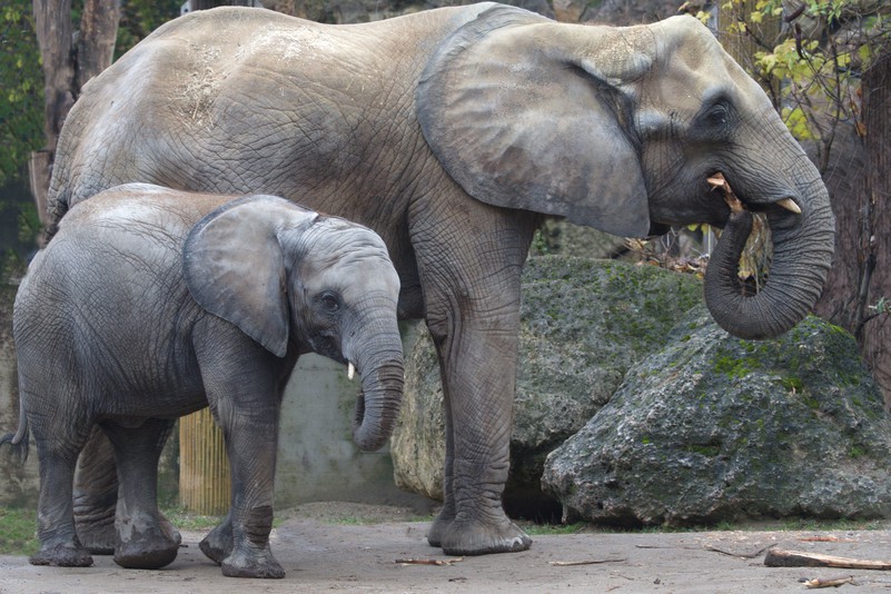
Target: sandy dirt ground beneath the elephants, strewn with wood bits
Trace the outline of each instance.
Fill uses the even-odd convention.
[[[891,572],[764,565],[770,547],[891,560],[891,525],[857,532],[537,535],[523,553],[461,560],[428,546],[428,523],[413,515],[354,504],[291,509],[273,534],[284,580],[222,577],[198,550],[204,534],[185,532],[179,556],[159,571],[123,570],[99,556],[86,568],[34,567],[24,557],[0,556],[0,593],[784,593],[809,591],[805,580],[843,576],[853,582],[842,591],[891,592]]]

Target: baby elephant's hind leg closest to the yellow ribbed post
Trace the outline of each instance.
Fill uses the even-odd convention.
[[[179,552],[179,533],[158,511],[157,498],[158,459],[174,423],[150,418],[137,428],[102,425],[118,462],[115,563],[121,567],[157,570]]]

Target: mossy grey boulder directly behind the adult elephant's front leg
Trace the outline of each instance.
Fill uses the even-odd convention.
[[[509,513],[560,512],[541,489],[545,457],[606,404],[635,362],[662,347],[701,294],[696,278],[651,266],[563,256],[528,260],[505,489]],[[406,353],[403,409],[392,440],[400,488],[442,499],[444,435],[439,367],[422,329]]]

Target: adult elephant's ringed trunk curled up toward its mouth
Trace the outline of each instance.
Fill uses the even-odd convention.
[[[737,270],[740,255],[752,229],[752,216],[731,215],[705,271],[705,304],[714,320],[740,338],[772,338],[808,315],[820,298],[832,261],[834,218],[829,195],[818,179],[812,200],[796,200],[795,215],[773,207],[768,221],[773,261],[764,288],[744,296]]]

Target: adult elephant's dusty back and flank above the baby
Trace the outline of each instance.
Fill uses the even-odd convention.
[[[50,234],[76,204],[132,181],[260,191],[315,208],[359,191],[350,184],[402,191],[378,169],[425,156],[413,123],[417,77],[442,39],[489,7],[350,26],[238,7],[170,21],[92,79],[69,113]]]

